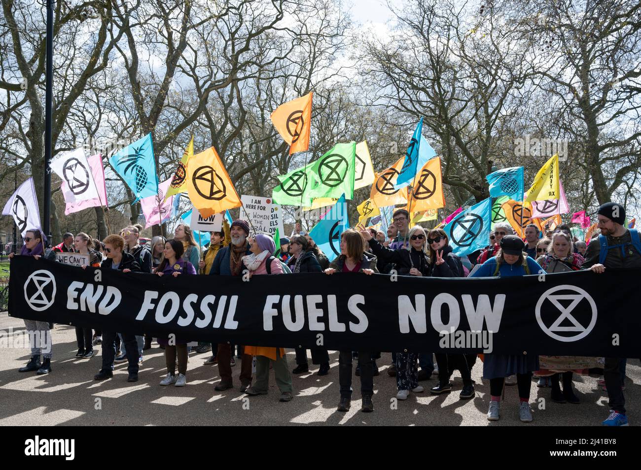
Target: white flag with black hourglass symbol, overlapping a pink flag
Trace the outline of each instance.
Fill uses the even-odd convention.
[[[80,148],[63,152],[51,161],[51,170],[62,178],[62,195],[65,202],[81,202],[99,197],[85,150]]]

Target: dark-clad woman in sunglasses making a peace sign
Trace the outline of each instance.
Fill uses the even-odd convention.
[[[443,229],[432,229],[428,232],[429,247],[429,272],[433,277],[465,277],[463,264],[458,256],[452,252],[449,239]],[[435,395],[449,393],[452,386],[450,377],[456,369],[461,373],[463,389],[458,395],[461,400],[468,400],[474,396],[472,382],[472,367],[476,362],[476,354],[446,354],[436,353],[438,364],[438,385],[429,392]]]

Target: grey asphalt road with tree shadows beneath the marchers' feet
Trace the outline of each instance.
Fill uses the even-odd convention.
[[[0,314],[0,331],[24,330],[24,322]],[[481,380],[481,362],[472,371],[476,396],[459,400],[462,381],[458,372],[453,377],[453,393],[433,396],[410,394],[398,401],[395,378],[388,377],[390,354],[378,361],[381,374],[374,377],[374,412],[360,412],[360,385],[354,377],[354,400],[347,413],[336,411],[338,403],[338,353],[330,353],[331,370],[325,377],[310,373],[294,376],[294,400],[278,401],[278,388],[271,375],[270,393],[247,397],[238,390],[240,364],[233,368],[235,389],[217,392],[217,366],[204,366],[205,354],[190,354],[187,386],[162,387],[165,377],[164,352],[154,343],[144,352],[140,380],[126,381],[127,364],[117,364],[113,378],[93,380],[100,368],[99,351],[92,359],[75,359],[76,334],[72,327],[56,325],[53,330],[52,373],[18,373],[29,359],[26,348],[7,348],[0,338],[0,426],[51,425],[438,425],[438,426],[598,426],[608,416],[606,394],[597,387],[595,377],[577,377],[574,385],[581,403],[558,404],[549,400],[550,389],[537,388],[533,382],[530,401],[534,421],[521,423],[516,387],[506,387],[501,404],[501,419],[487,421],[489,383]],[[100,346],[97,346],[100,348]],[[287,359],[293,369],[294,352]],[[628,361],[626,405],[630,425],[641,423],[641,368],[638,359]],[[420,382],[426,389],[436,385],[431,379]]]

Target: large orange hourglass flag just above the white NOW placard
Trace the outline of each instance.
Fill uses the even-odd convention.
[[[236,188],[213,147],[189,159],[187,192],[204,218],[242,206]]]

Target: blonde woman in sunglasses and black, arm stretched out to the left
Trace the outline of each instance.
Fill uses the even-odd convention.
[[[369,242],[372,253],[377,257],[395,263],[399,275],[401,276],[428,276],[429,275],[429,261],[425,253],[426,250],[426,234],[423,227],[415,225],[410,229],[408,237],[410,239],[410,249],[397,248],[391,250],[390,248],[383,247],[372,233],[365,229],[362,225],[359,226],[361,235],[365,241]],[[431,357],[431,353],[428,353]],[[407,400],[410,391],[420,393],[424,388],[419,385],[419,353],[417,352],[397,352],[392,355],[394,359],[394,366],[396,369],[396,386],[398,393],[396,398],[399,400]]]

